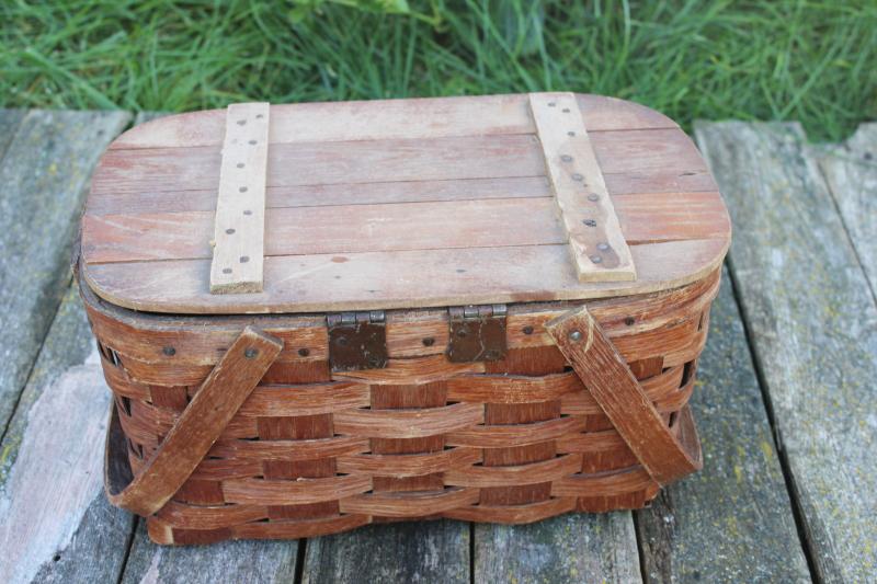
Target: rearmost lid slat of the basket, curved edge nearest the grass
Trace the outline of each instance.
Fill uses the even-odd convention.
[[[601,95],[578,95],[588,127],[676,128],[658,112]],[[532,134],[525,95],[273,105],[271,142],[441,138],[485,134]],[[192,117],[197,116],[196,125]],[[182,114],[125,133],[113,149],[216,146],[223,144],[225,111]]]

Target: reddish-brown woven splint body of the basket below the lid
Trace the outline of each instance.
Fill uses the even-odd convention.
[[[329,311],[125,308],[89,265],[94,238],[76,267],[115,394],[107,494],[156,542],[637,508],[702,465],[687,402],[727,229],[708,262],[656,291],[522,297],[463,333],[446,308],[381,310],[383,345],[358,365],[341,350],[357,323],[371,331],[362,312],[344,336]],[[496,354],[455,356],[487,321]]]

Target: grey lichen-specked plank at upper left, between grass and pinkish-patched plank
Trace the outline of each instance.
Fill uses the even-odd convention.
[[[60,302],[89,174],[124,112],[32,111],[0,162],[0,427]]]

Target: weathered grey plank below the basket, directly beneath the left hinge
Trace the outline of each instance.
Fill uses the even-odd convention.
[[[469,525],[406,522],[309,539],[303,583],[468,583]]]

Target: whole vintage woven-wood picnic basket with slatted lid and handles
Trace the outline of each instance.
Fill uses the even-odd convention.
[[[111,502],[159,543],[647,505],[730,224],[665,116],[533,93],[174,115],[107,149],[75,270]]]

